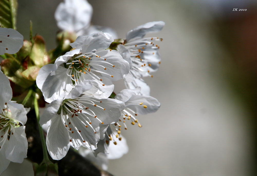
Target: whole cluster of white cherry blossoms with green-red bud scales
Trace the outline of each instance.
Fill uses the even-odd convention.
[[[6,65],[4,73],[0,71],[0,174],[10,161],[21,163],[28,148],[24,125],[29,109],[11,101],[8,78],[24,87],[34,84],[33,89],[40,89],[49,103],[39,124],[47,128],[46,146],[54,160],[62,159],[72,146],[81,155],[98,156],[107,169],[103,161],[128,152],[121,129],[126,130],[128,123],[142,127],[137,116],[160,108],[143,77],[159,68],[161,57],[155,42],[162,39],[144,36],[160,31],[165,23],[149,22],[127,32],[126,39],[117,39],[113,29],[91,25],[92,13],[86,0],[59,4],[55,18],[62,30],[62,50],[52,60],[45,53],[43,60],[33,57],[33,52],[42,50],[36,48],[41,37],[23,41],[14,29],[0,28],[0,55],[22,57],[13,77]],[[29,81],[23,83],[24,79]],[[115,94],[113,82],[118,80],[124,80],[127,89]]]

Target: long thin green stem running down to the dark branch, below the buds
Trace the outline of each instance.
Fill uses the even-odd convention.
[[[43,161],[42,163],[46,163],[46,164],[50,164],[52,163],[49,158],[48,158],[48,153],[47,153],[47,146],[45,144],[45,137],[44,137],[44,133],[42,130],[42,127],[39,124],[39,108],[38,108],[38,100],[36,99],[36,97],[34,98],[34,108],[35,108],[35,113],[36,113],[36,119],[38,121],[38,129],[39,129],[39,133],[40,133],[40,138],[41,138],[41,143],[42,143],[42,147],[43,147]]]

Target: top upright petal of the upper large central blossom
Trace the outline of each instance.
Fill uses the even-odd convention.
[[[98,48],[108,48],[114,41],[113,36],[108,33],[98,32],[89,36],[78,36],[75,42],[70,43],[72,48],[82,49],[81,52],[92,52]]]

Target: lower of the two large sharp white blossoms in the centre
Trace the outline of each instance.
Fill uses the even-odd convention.
[[[70,146],[94,151],[98,141],[104,139],[108,125],[120,119],[125,104],[92,96],[97,86],[94,81],[82,81],[68,95],[64,93],[52,101],[43,112],[39,123],[51,120],[46,144],[54,160],[62,159]]]

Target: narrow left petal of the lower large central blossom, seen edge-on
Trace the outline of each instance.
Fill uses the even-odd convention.
[[[40,117],[39,124],[42,126],[51,120],[54,115],[58,112],[60,105],[65,97],[65,94],[61,94],[56,100],[52,101],[48,107],[44,110],[42,116]]]

